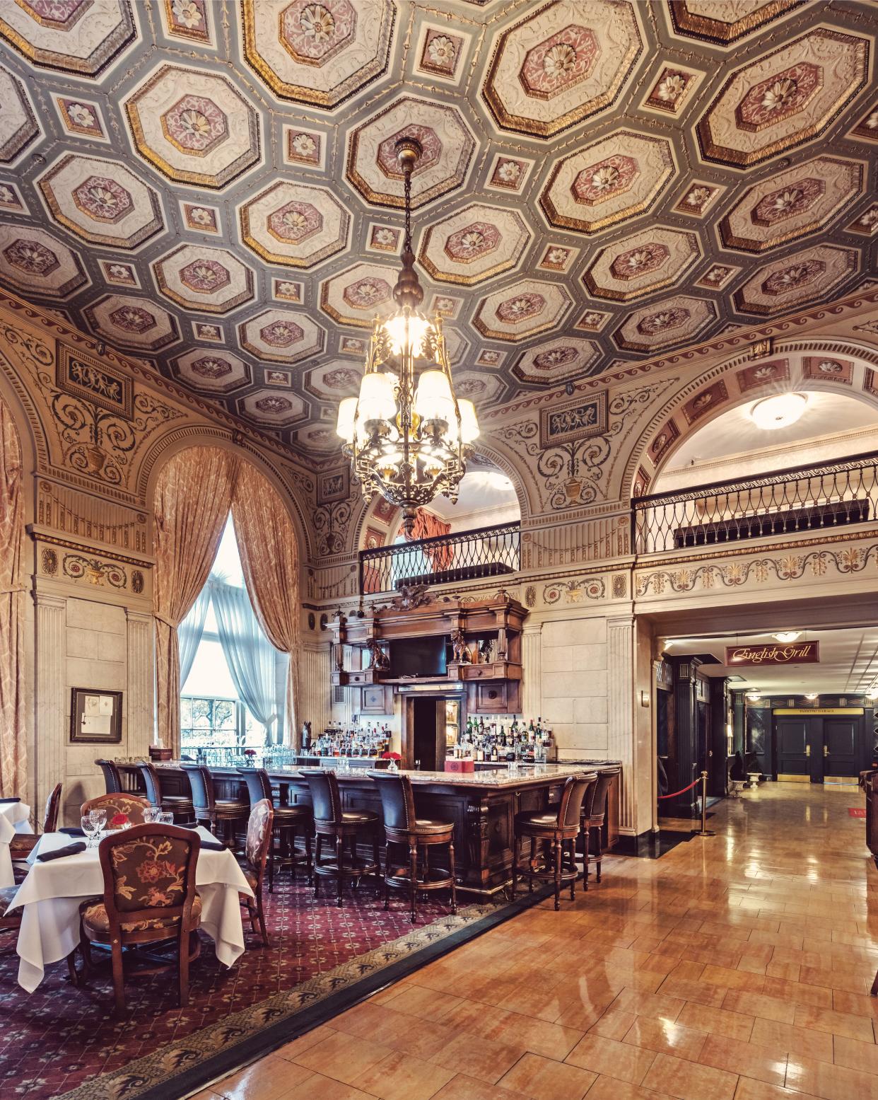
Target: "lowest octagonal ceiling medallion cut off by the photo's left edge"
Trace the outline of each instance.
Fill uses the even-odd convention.
[[[88,283],[80,257],[36,227],[0,224],[0,276],[15,289],[63,299]]]

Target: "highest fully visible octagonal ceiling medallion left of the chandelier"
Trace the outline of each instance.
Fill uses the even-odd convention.
[[[134,147],[178,183],[219,189],[260,160],[257,112],[215,73],[162,65],[125,111]]]

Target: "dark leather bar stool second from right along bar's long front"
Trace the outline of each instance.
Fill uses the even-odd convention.
[[[378,814],[371,810],[342,810],[342,794],[335,772],[329,768],[302,768],[299,772],[308,781],[314,811],[314,897],[318,893],[316,876],[335,879],[335,904],[342,904],[342,883],[346,878],[359,880],[364,875],[378,875]],[[371,834],[373,860],[357,855],[357,837]],[[335,859],[321,862],[323,837],[331,837],[335,845]],[[349,862],[345,862],[345,840]]]

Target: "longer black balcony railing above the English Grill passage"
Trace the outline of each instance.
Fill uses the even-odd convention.
[[[863,524],[878,514],[878,452],[632,501],[635,553]]]

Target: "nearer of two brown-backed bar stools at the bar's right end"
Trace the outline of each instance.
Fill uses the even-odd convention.
[[[515,814],[515,838],[512,846],[512,900],[515,899],[515,888],[519,880],[520,844],[529,838],[531,855],[527,860],[527,889],[533,892],[534,879],[541,882],[554,882],[555,909],[560,909],[560,888],[570,883],[570,901],[576,897],[576,880],[579,869],[576,866],[576,838],[579,836],[582,800],[589,788],[597,782],[597,772],[589,771],[580,776],[569,776],[564,784],[560,802],[547,810],[524,810]],[[538,869],[534,848],[551,845],[552,858],[544,851],[543,867]],[[565,858],[569,862],[565,862]]]

